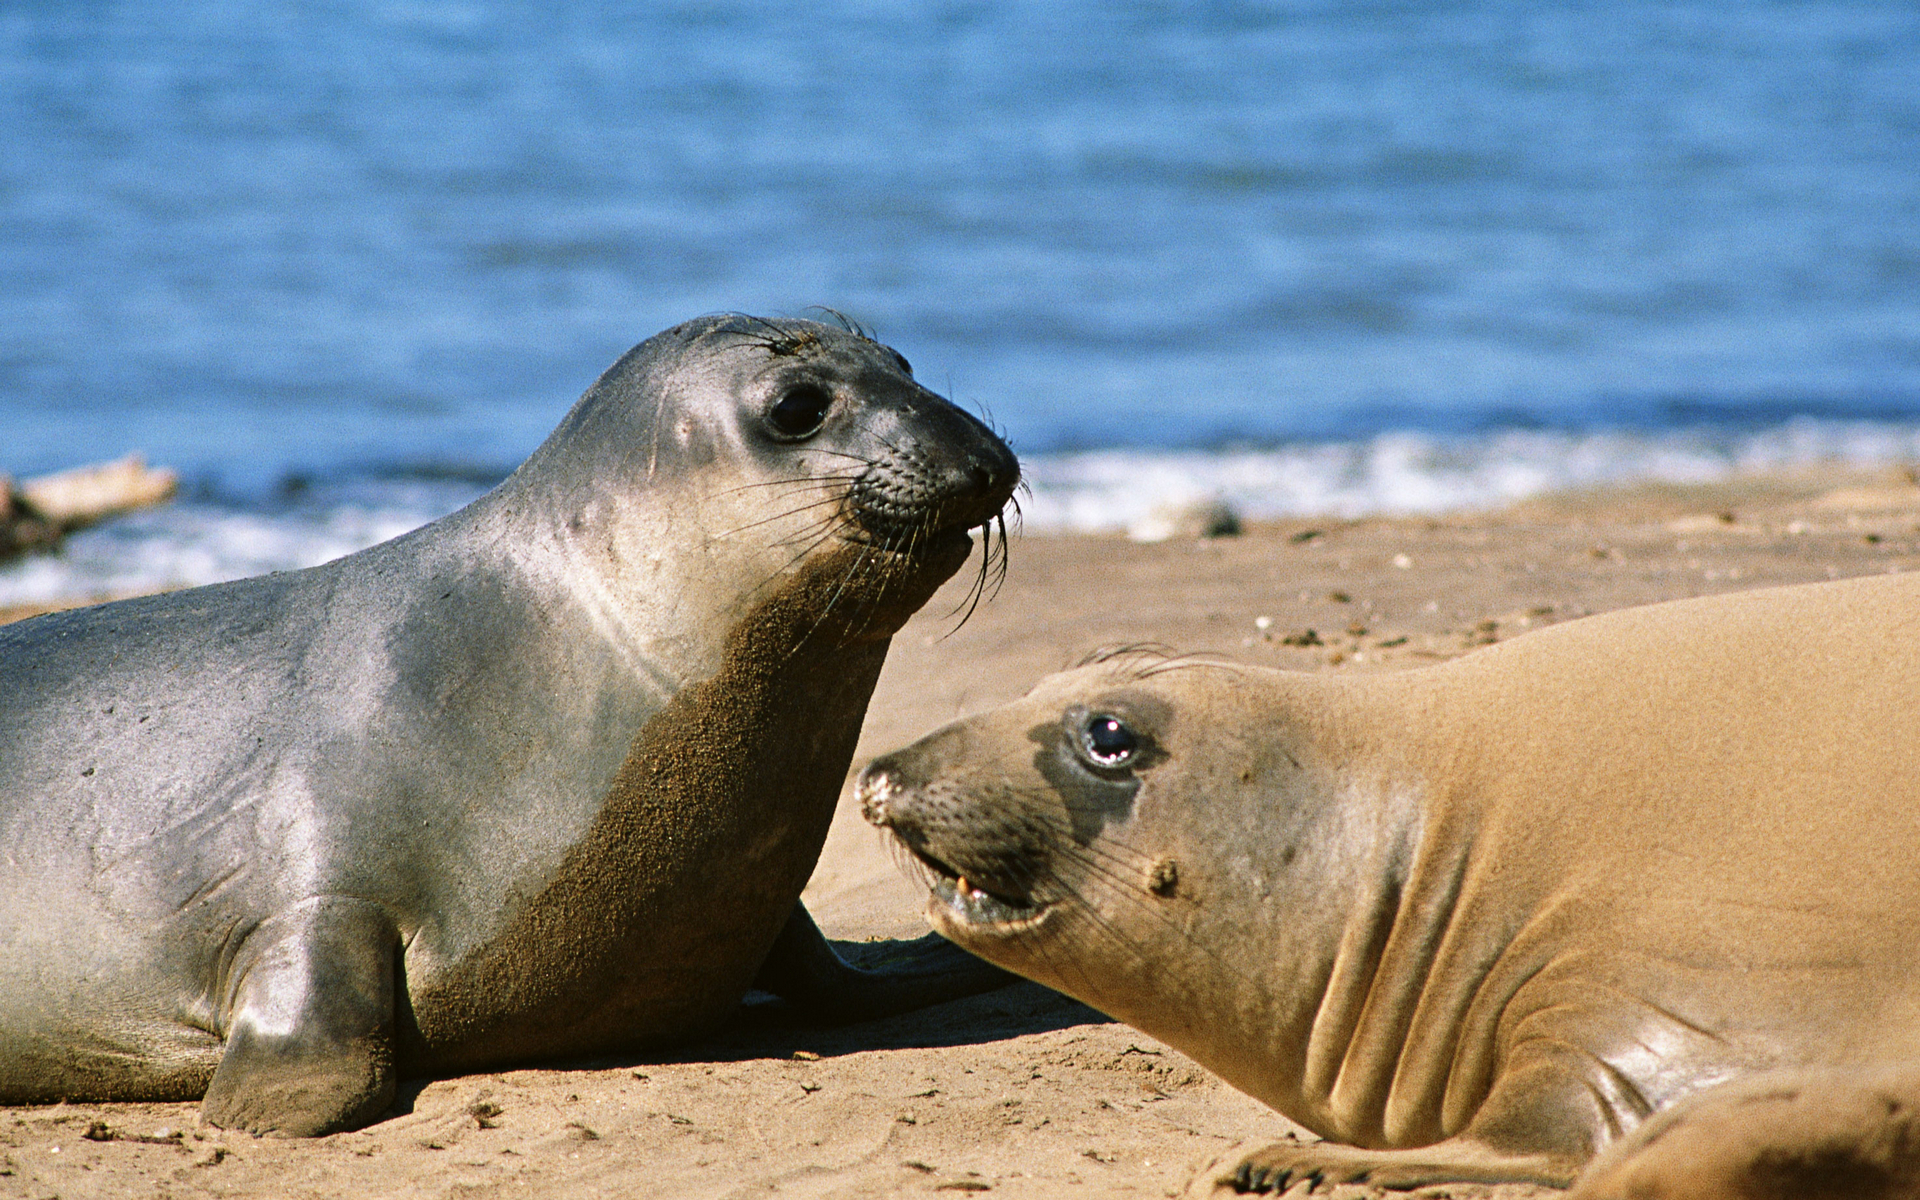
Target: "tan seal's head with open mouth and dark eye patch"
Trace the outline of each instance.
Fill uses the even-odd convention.
[[[945,937],[1267,1098],[1380,816],[1286,680],[1110,655],[874,760],[854,795]]]

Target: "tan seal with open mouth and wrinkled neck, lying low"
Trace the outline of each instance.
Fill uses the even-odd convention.
[[[947,937],[1329,1139],[1223,1183],[1565,1185],[1722,1081],[1920,1060],[1916,699],[1882,576],[1400,674],[1116,657],[858,795]]]

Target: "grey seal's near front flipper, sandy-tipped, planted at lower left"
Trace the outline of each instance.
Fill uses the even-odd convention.
[[[205,1119],[321,1137],[380,1116],[394,1102],[397,952],[367,900],[319,897],[255,927],[234,958]]]

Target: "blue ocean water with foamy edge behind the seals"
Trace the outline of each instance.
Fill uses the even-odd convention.
[[[722,309],[872,326],[1029,528],[1914,459],[1916,81],[1870,0],[12,0],[0,470],[188,490],[0,599],[424,520]]]

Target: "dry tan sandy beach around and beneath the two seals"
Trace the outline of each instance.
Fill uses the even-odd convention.
[[[900,634],[858,762],[1100,645],[1400,670],[1607,609],[1889,570],[1920,570],[1912,472],[1290,520],[1213,541],[1033,536],[964,626],[948,614],[958,580]],[[851,943],[925,929],[916,885],[845,803],[806,900]],[[668,1062],[413,1083],[396,1116],[311,1142],[202,1127],[198,1104],[0,1110],[0,1198],[1177,1196],[1229,1144],[1284,1129],[1160,1043],[1018,985],[826,1031],[749,1010]]]

